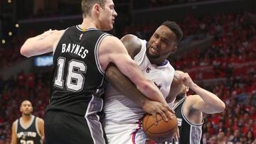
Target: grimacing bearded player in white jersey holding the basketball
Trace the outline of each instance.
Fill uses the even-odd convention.
[[[175,99],[174,92],[170,93],[174,79],[174,67],[167,57],[177,49],[178,41],[183,33],[174,22],[166,21],[156,29],[149,43],[134,35],[125,35],[122,38],[129,55],[151,79],[166,98]],[[176,92],[178,94],[178,92]],[[112,85],[107,85],[105,94],[105,132],[110,144],[145,143],[146,137],[142,131],[141,118],[144,111],[133,101],[119,94]]]

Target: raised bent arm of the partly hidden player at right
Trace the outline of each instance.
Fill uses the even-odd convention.
[[[183,84],[198,94],[188,96],[191,109],[203,111],[204,113],[220,113],[225,109],[224,102],[221,101],[218,96],[195,84],[188,73],[180,74],[180,76],[183,80]]]

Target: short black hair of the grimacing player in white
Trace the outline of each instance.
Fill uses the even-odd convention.
[[[164,21],[161,26],[167,26],[171,31],[176,34],[177,41],[180,41],[183,38],[183,32],[181,27],[174,21]]]

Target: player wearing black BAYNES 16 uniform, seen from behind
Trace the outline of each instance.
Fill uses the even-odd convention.
[[[102,31],[113,28],[117,16],[113,1],[82,0],[81,5],[82,24],[28,38],[21,47],[21,54],[26,57],[53,52],[52,89],[45,117],[46,143],[106,143],[97,113],[102,110],[105,74],[112,82],[112,73],[105,73],[110,62],[154,100],[149,104],[146,102],[149,99],[126,92],[144,111],[171,117],[172,110],[164,96],[144,77],[122,42]],[[113,82],[125,87],[121,81]]]

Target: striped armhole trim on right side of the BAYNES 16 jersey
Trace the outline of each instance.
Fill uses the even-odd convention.
[[[99,72],[102,75],[105,74],[105,70],[103,70],[101,65],[100,65],[99,47],[100,47],[100,43],[102,42],[103,38],[105,38],[107,35],[110,35],[110,34],[103,33],[102,35],[100,35],[100,38],[97,39],[97,42],[96,42],[96,45],[95,45],[95,62],[97,64],[97,68],[98,68]]]

